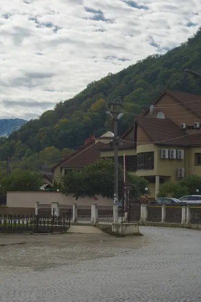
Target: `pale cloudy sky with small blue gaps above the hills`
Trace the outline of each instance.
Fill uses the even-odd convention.
[[[0,0],[0,118],[37,117],[109,72],[177,46],[201,0]]]

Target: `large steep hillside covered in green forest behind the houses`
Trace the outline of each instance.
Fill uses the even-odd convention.
[[[7,154],[10,154],[13,160],[22,160],[21,164],[18,163],[21,168],[23,164],[25,169],[26,162],[33,167],[34,162],[38,165],[40,154],[43,153],[41,150],[52,146],[52,150],[59,153],[57,159],[49,160],[49,165],[53,165],[61,159],[64,153],[64,150],[61,153],[62,149],[77,148],[84,144],[84,139],[89,135],[98,136],[112,130],[112,121],[105,112],[107,101],[114,95],[121,97],[124,102],[125,114],[119,125],[123,132],[132,123],[132,114],[140,113],[143,105],[150,104],[164,89],[201,94],[201,81],[184,74],[186,68],[197,71],[201,68],[201,28],[179,47],[164,55],[148,56],[116,74],[110,73],[88,84],[72,99],[60,102],[54,110],[30,120],[11,133],[8,139],[1,138],[0,160],[5,161]],[[135,107],[134,104],[142,107]]]

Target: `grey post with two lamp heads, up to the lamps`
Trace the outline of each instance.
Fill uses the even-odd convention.
[[[115,104],[114,104],[115,105]],[[115,109],[115,108],[114,108]],[[110,111],[106,112],[113,119],[114,124],[114,139],[113,139],[113,148],[114,148],[114,203],[118,204],[119,198],[119,181],[118,181],[118,121],[123,116],[123,113],[118,113],[114,110],[113,114]]]

